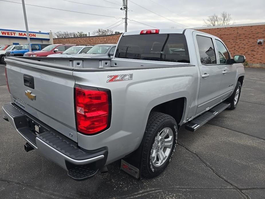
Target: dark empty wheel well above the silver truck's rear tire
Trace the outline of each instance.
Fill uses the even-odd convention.
[[[152,108],[151,112],[156,111],[170,115],[176,120],[177,124],[179,124],[183,115],[184,103],[185,98],[180,97],[177,99],[170,100],[168,102],[164,102],[162,104],[158,104],[157,106]]]

